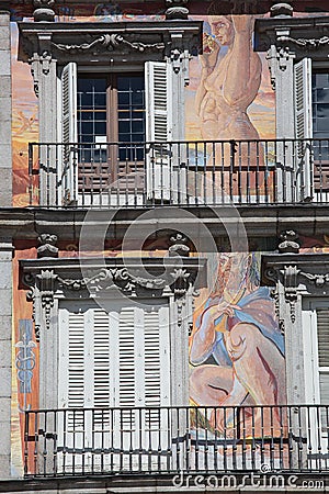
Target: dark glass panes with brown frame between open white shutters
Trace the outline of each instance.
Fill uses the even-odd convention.
[[[144,159],[144,146],[128,146],[129,143],[145,142],[143,74],[78,77],[78,141],[126,143],[126,146],[120,146],[120,160]],[[105,161],[105,149],[102,154]]]

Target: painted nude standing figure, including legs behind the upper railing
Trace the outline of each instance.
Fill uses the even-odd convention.
[[[226,193],[239,197],[260,194],[263,193],[264,177],[260,170],[264,165],[264,153],[247,113],[257,97],[262,72],[261,59],[251,45],[253,16],[209,15],[208,23],[212,34],[204,34],[204,50],[198,57],[201,81],[195,96],[202,138],[251,141],[237,144],[234,169],[230,168],[232,153],[229,143],[217,144],[215,160],[211,156],[209,162],[216,162],[218,171],[224,164],[227,173],[219,187]]]

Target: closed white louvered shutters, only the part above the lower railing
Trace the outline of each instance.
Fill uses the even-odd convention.
[[[60,407],[170,404],[168,307],[124,305],[107,314],[68,303],[59,318]]]

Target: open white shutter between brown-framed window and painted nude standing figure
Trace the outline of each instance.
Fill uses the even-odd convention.
[[[166,61],[145,64],[147,197],[149,200],[170,199],[172,141],[172,75]]]

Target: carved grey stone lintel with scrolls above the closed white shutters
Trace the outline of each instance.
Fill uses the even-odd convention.
[[[38,339],[41,328],[50,329],[55,297],[104,299],[168,296],[178,302],[193,292],[201,282],[205,260],[198,258],[110,258],[105,266],[101,259],[89,258],[80,265],[78,258],[21,260],[23,282],[30,287],[26,299],[33,302],[33,319]],[[141,263],[140,263],[141,262]],[[45,266],[47,268],[45,268]],[[90,274],[89,274],[90,273]],[[205,283],[205,281],[202,281]]]

